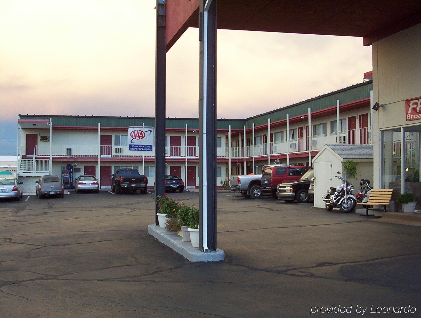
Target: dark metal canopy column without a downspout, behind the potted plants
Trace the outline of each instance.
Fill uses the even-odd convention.
[[[155,59],[155,198],[165,193],[165,0],[157,0]],[[155,206],[155,224],[158,225]]]

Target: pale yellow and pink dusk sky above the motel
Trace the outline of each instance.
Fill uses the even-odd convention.
[[[155,0],[0,0],[0,141],[21,114],[153,116]],[[361,38],[218,30],[219,118],[362,81]],[[167,115],[198,117],[197,28],[167,53]],[[0,142],[0,154],[16,152]],[[14,153],[13,153],[14,154]]]

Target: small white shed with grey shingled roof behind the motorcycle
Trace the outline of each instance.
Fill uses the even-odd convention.
[[[360,189],[360,180],[369,179],[373,184],[373,145],[341,145],[327,144],[313,158],[314,167],[314,207],[325,208],[322,197],[329,187],[337,187],[341,180],[335,178],[336,171],[344,174],[343,164],[346,160],[357,163],[355,177],[346,176],[346,179],[354,185],[353,194]]]

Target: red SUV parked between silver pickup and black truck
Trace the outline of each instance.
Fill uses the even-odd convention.
[[[277,199],[277,185],[300,179],[312,167],[309,166],[274,166],[266,167],[262,174],[261,189],[271,192],[272,198]]]

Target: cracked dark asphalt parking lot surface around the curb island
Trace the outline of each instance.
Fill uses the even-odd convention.
[[[419,317],[419,227],[218,194],[226,259],[190,263],[147,233],[147,195],[0,201],[0,317]],[[198,203],[198,193],[170,196]],[[416,314],[370,314],[371,305]]]

